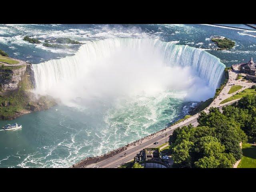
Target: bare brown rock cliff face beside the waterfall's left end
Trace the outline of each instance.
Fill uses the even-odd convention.
[[[0,67],[0,89],[2,92],[17,90],[23,83],[26,83],[26,88],[33,87],[33,73],[30,64]]]

